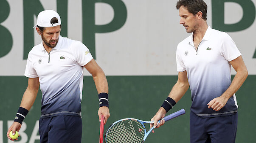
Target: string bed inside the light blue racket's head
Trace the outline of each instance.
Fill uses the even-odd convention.
[[[143,125],[134,120],[120,121],[107,132],[107,143],[141,143],[144,138]]]

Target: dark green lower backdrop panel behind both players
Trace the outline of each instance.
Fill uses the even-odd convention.
[[[107,76],[109,83],[110,118],[105,125],[105,130],[114,121],[132,117],[142,120],[150,120],[158,111],[169,94],[172,86],[177,81],[177,76]],[[28,79],[21,76],[0,77],[0,121],[3,121],[2,139],[7,143],[7,121],[13,120],[20,105]],[[248,76],[243,86],[236,93],[239,105],[239,122],[236,143],[256,142],[255,129],[256,109],[256,76]],[[163,127],[155,129],[155,133],[149,135],[146,143],[189,143],[189,113],[191,105],[190,91],[177,103],[168,114],[184,108],[185,115],[167,122]],[[42,93],[39,90],[37,99],[26,116],[27,129],[25,133],[28,140],[34,129],[36,121],[40,117]],[[82,143],[96,143],[99,135],[98,121],[98,95],[92,77],[84,77],[82,99]],[[149,129],[149,126],[146,126]],[[1,127],[0,127],[1,129]],[[37,135],[39,135],[37,133]],[[19,137],[20,138],[20,137]],[[21,137],[22,138],[22,137]],[[20,139],[21,139],[20,138]],[[27,141],[28,142],[28,141]],[[36,140],[35,143],[39,143]]]

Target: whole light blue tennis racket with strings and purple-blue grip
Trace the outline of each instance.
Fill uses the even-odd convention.
[[[169,121],[177,116],[185,114],[185,110],[174,112],[163,117],[164,121]],[[160,120],[158,121],[158,123]],[[134,118],[126,118],[115,121],[108,127],[105,133],[105,143],[143,143],[146,137],[154,129],[152,127],[148,132],[143,123],[153,124],[154,121],[142,121]]]

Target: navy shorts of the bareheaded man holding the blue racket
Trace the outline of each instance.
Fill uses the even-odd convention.
[[[237,113],[228,116],[201,118],[190,112],[191,143],[235,143]]]

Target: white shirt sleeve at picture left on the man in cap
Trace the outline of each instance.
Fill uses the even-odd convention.
[[[33,62],[31,59],[32,59],[31,53],[29,52],[24,76],[26,76],[28,78],[37,78],[38,75],[37,75],[36,70],[33,67]]]

